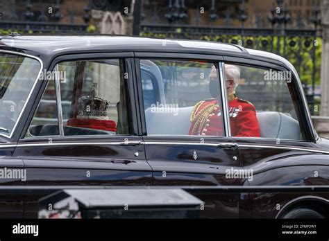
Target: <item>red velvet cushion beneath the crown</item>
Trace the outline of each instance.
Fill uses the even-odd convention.
[[[117,132],[117,125],[113,120],[71,118],[67,120],[67,125],[74,127],[83,127],[83,128]]]

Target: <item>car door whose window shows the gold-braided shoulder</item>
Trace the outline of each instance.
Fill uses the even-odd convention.
[[[221,57],[168,53],[135,56],[140,57],[135,65],[153,185],[244,185],[244,177],[234,177],[234,171],[242,168],[235,141],[226,137]],[[196,118],[192,120],[192,116]],[[204,117],[202,125],[197,116]],[[216,125],[212,130],[206,130],[209,118]],[[197,195],[205,202],[202,217],[239,217],[240,195]]]

